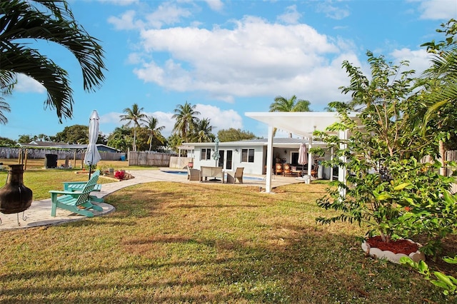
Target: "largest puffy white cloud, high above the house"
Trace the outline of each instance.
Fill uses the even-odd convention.
[[[288,92],[311,103],[328,102],[321,88],[341,78],[341,62],[331,64],[328,56],[338,55],[352,44],[342,40],[335,44],[306,24],[270,24],[251,16],[233,22],[233,29],[174,27],[141,31],[144,51],[167,52],[169,59],[148,61],[134,73],[146,82],[174,91],[207,91],[229,102],[233,96]],[[325,81],[318,82],[316,73],[324,72],[329,73],[323,76]],[[317,100],[307,96],[316,96]]]

